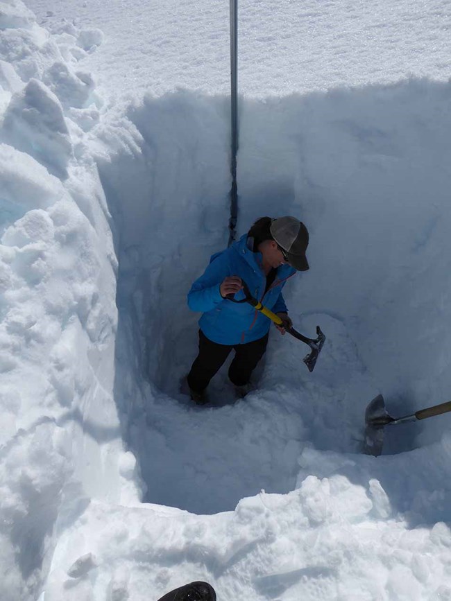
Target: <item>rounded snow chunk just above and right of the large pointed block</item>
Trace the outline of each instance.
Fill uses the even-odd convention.
[[[94,89],[90,73],[72,73],[64,62],[53,63],[44,73],[43,81],[64,107],[85,107]]]

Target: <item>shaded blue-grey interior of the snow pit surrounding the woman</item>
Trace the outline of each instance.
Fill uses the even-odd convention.
[[[207,421],[214,428],[214,419],[224,424],[226,412],[200,422],[187,417],[179,402],[180,378],[196,353],[197,316],[189,313],[185,296],[210,254],[227,241],[227,99],[177,92],[147,96],[130,108],[130,138],[108,162],[99,160],[99,171],[119,253],[114,396],[147,483],[146,500],[214,513],[256,494],[258,485],[288,491],[298,465],[296,451],[305,442],[324,450],[359,450],[349,433],[361,439],[364,408],[378,392],[395,415],[447,398],[451,340],[443,336],[442,324],[451,311],[449,102],[450,85],[429,80],[241,99],[239,233],[265,214],[305,220],[311,270],[290,282],[286,299],[299,329],[313,333],[320,322],[329,331],[310,380],[300,374],[300,357],[289,369],[293,358],[274,346],[277,341],[270,345],[262,390],[271,396],[287,383],[303,390],[305,399],[303,409],[296,409],[298,430],[287,434],[280,426],[280,439],[287,435],[295,449],[288,459],[282,448],[271,458],[278,469],[283,465],[280,478],[264,471],[259,480],[248,478],[251,469],[259,473],[257,456],[252,468],[242,467],[232,460],[239,434],[228,441],[213,430],[226,464],[221,478],[231,482],[227,493],[212,473],[218,465],[208,467],[203,454],[194,451],[203,446],[200,424]],[[291,354],[302,352],[291,349]],[[227,395],[223,389],[219,394]],[[290,390],[284,394],[290,396]],[[329,426],[324,416],[313,424],[318,419],[309,404],[318,409],[318,394],[328,401],[324,416],[330,403],[346,395],[346,407],[334,413]],[[239,423],[256,415],[259,423],[265,419],[251,405],[235,407]],[[439,441],[449,425],[449,416],[443,416],[414,433],[398,430],[394,441],[387,436],[387,448],[397,452]],[[333,434],[337,429],[347,442]],[[245,439],[242,451],[249,455]],[[210,452],[211,444],[205,444]],[[240,469],[243,478],[237,482]],[[217,484],[215,498],[205,494],[205,486],[202,495],[198,491],[207,482],[209,488]]]

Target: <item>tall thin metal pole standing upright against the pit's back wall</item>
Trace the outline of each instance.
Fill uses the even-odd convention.
[[[238,189],[237,189],[237,150],[238,150],[238,0],[230,0],[230,116],[231,116],[231,158],[230,173],[230,246],[237,234]]]

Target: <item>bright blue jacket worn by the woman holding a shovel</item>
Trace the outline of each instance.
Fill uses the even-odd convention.
[[[295,273],[296,270],[290,265],[280,265],[273,284],[265,294],[266,275],[262,268],[262,253],[253,252],[248,247],[247,234],[244,234],[228,249],[212,255],[210,265],[189,290],[188,306],[192,311],[203,311],[199,326],[213,342],[220,345],[252,342],[265,336],[271,320],[248,303],[237,304],[223,299],[219,291],[223,279],[230,275],[241,277],[248,285],[251,295],[271,311],[278,313],[287,311],[282,288]],[[243,298],[243,290],[240,290],[235,299]]]

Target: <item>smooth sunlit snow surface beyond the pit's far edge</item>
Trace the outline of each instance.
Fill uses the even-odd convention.
[[[121,0],[106,10],[101,0],[28,6],[51,28],[76,19],[84,29],[103,30],[105,40],[96,52],[87,49],[86,64],[114,102],[148,88],[159,96],[180,86],[228,94],[227,0]],[[450,77],[446,0],[239,0],[238,17],[244,96]]]

